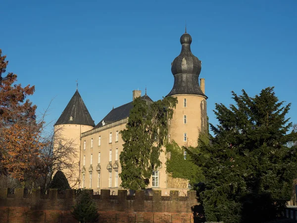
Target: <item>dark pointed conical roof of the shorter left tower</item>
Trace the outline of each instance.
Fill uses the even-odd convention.
[[[60,124],[81,124],[95,126],[95,122],[92,119],[82,97],[78,93],[78,90],[76,90],[68,105],[54,125]]]

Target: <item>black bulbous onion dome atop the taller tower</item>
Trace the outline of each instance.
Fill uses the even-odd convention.
[[[201,72],[201,61],[192,54],[192,37],[188,33],[181,36],[182,51],[171,66],[174,85],[167,96],[178,94],[194,94],[207,98],[200,89],[198,78]]]

